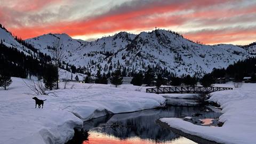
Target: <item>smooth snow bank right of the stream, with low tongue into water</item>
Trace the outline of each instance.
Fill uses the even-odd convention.
[[[233,87],[229,84],[215,86]],[[179,118],[162,118],[174,129],[219,143],[254,143],[256,141],[256,84],[243,84],[232,91],[212,93],[210,101],[221,105],[222,127],[198,126]]]

